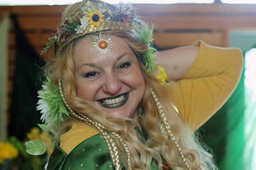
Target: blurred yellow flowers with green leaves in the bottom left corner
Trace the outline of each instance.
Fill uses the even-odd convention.
[[[30,141],[28,141],[30,140]],[[0,170],[42,170],[52,152],[49,132],[34,127],[25,141],[11,136],[0,142]]]

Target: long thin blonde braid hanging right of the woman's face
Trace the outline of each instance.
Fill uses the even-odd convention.
[[[179,144],[178,144],[178,142],[177,142],[177,140],[176,140],[176,138],[175,138],[175,136],[174,136],[174,134],[172,133],[172,130],[170,129],[170,125],[169,125],[169,123],[167,122],[167,119],[166,119],[166,116],[165,116],[165,114],[164,114],[164,111],[162,110],[162,105],[161,105],[161,103],[159,102],[159,100],[158,100],[158,98],[157,98],[157,96],[156,96],[156,93],[153,91],[152,88],[150,89],[150,93],[151,93],[151,95],[153,96],[154,101],[156,102],[156,106],[157,106],[157,108],[158,108],[159,115],[160,115],[160,117],[162,118],[162,121],[164,122],[164,125],[162,126],[161,132],[162,132],[163,129],[165,128],[165,130],[167,131],[167,134],[168,134],[169,138],[174,142],[174,144],[175,144],[176,147],[178,148],[178,151],[180,152],[180,156],[182,157],[182,160],[183,160],[184,164],[186,165],[186,168],[187,168],[188,170],[191,170],[190,167],[189,167],[189,165],[188,165],[188,163],[187,163],[187,161],[186,161],[186,158],[185,158],[185,156],[184,156],[184,154],[183,154],[183,152],[182,152],[182,150],[181,150],[181,148],[180,148],[180,146],[179,146]],[[163,127],[164,127],[164,128],[163,128]],[[161,126],[160,126],[160,128],[161,128]],[[165,134],[164,132],[162,132],[162,133]],[[165,137],[165,136],[164,136],[164,137]]]

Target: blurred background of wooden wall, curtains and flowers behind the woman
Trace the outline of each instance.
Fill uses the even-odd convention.
[[[43,167],[44,158],[24,152],[24,141],[45,135],[35,128],[41,123],[36,103],[42,59],[49,55],[40,56],[40,51],[58,26],[61,11],[74,2],[0,1],[0,169]],[[198,131],[216,155],[220,170],[256,170],[256,0],[123,2],[136,3],[142,19],[154,23],[154,44],[160,50],[196,40],[242,50],[245,67],[237,89]]]

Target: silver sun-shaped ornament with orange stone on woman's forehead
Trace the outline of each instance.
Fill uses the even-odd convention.
[[[109,51],[111,51],[111,46],[112,41],[110,38],[102,36],[102,34],[100,33],[99,38],[96,38],[96,40],[94,40],[94,49],[99,53],[99,54],[106,54],[109,53]]]

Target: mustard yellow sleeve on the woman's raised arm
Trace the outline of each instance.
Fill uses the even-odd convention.
[[[186,75],[170,86],[173,103],[181,117],[196,130],[224,103],[236,88],[243,69],[239,49],[207,45],[202,41],[198,55]]]

